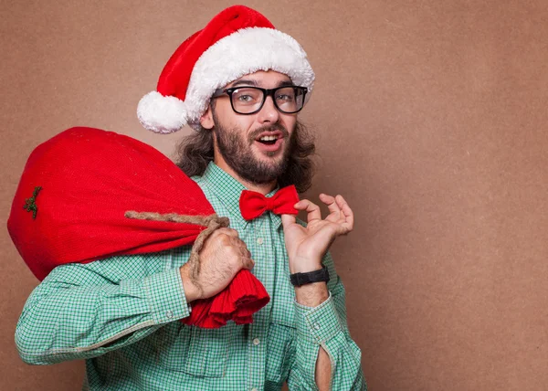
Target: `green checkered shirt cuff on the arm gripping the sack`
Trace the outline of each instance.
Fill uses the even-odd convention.
[[[153,321],[157,324],[174,322],[190,315],[190,306],[186,302],[178,268],[145,278],[143,288]]]

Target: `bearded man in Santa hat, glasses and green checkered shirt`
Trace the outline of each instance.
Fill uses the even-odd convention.
[[[154,132],[195,128],[178,164],[230,227],[206,239],[195,269],[188,246],[54,269],[17,324],[21,357],[38,365],[86,359],[90,389],[279,390],[286,381],[290,389],[365,389],[328,252],[353,229],[351,208],[342,196],[321,195],[330,210],[322,219],[319,206],[301,200],[294,207],[307,211],[305,225],[271,210],[248,216],[241,201],[247,189],[271,206],[286,185],[310,186],[314,147],[297,113],[313,79],[296,41],[244,6],[188,38],[138,116]],[[270,295],[251,324],[175,322],[240,269]]]

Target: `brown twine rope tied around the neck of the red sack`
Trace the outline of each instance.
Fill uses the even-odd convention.
[[[134,210],[128,210],[124,216],[138,220],[173,221],[174,223],[188,223],[206,227],[195,239],[195,243],[192,246],[192,251],[190,253],[190,258],[188,259],[188,262],[191,265],[190,277],[192,280],[198,279],[198,274],[200,272],[199,252],[204,247],[205,239],[209,238],[209,236],[217,228],[228,227],[230,224],[228,217],[218,217],[216,216],[216,213],[209,216],[190,216],[177,215],[176,213],[167,213],[162,215],[155,212],[136,212]],[[202,290],[202,287],[197,288]]]

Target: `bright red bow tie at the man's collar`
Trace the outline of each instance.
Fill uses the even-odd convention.
[[[299,202],[299,195],[294,185],[286,186],[269,198],[258,192],[242,191],[240,196],[240,212],[246,220],[252,220],[270,210],[277,215],[287,213],[297,215],[299,211],[293,206]]]

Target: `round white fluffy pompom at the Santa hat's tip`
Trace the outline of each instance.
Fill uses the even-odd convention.
[[[137,117],[147,130],[155,133],[173,133],[186,125],[186,105],[174,96],[163,96],[151,91],[139,101]]]

